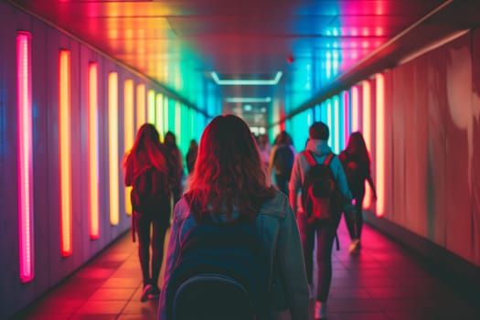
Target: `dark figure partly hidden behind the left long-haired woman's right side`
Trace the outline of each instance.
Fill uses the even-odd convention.
[[[172,132],[165,133],[164,144],[166,147],[167,162],[171,168],[170,188],[174,197],[174,204],[182,195],[182,180],[184,177],[184,161],[182,153],[176,146],[176,137]]]

